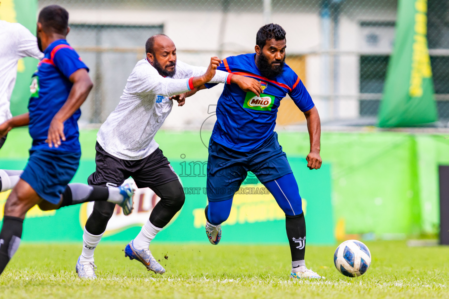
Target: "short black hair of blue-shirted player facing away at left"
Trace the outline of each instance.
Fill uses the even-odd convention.
[[[59,5],[48,5],[40,11],[37,22],[42,24],[46,32],[52,31],[66,35],[69,26],[69,13]]]

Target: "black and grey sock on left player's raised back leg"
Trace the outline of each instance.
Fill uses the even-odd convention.
[[[123,196],[120,195],[123,200]],[[90,186],[81,183],[70,183],[62,193],[62,203],[59,208],[82,204],[88,201],[106,201],[109,199],[109,188],[105,186]]]

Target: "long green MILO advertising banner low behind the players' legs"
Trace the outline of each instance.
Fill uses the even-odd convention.
[[[303,198],[310,244],[334,244],[334,220],[331,205],[330,166],[310,171],[304,158],[289,158]],[[26,160],[0,160],[4,169],[23,169]],[[207,242],[204,229],[207,161],[172,161],[185,190],[184,207],[169,225],[158,234],[163,242]],[[82,160],[74,182],[86,182],[95,170],[94,160]],[[9,192],[0,193],[0,217]],[[134,210],[124,216],[119,207],[110,219],[104,240],[129,242],[138,234],[159,198],[148,188],[134,195]],[[36,206],[26,215],[23,240],[39,242],[82,241],[84,224],[92,212],[93,203],[43,212]],[[1,219],[1,218],[0,218]],[[234,196],[229,219],[223,224],[222,242],[227,243],[287,243],[285,214],[273,196],[249,173]]]

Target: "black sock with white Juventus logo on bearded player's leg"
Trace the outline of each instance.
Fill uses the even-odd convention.
[[[306,251],[306,221],[304,212],[296,216],[285,216],[285,227],[288,243],[290,244],[292,268],[304,265]],[[296,262],[296,263],[295,263]]]

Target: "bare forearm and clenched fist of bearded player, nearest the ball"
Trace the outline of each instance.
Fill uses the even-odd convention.
[[[307,155],[307,167],[309,169],[319,169],[321,167],[320,156],[320,137],[321,137],[321,121],[317,107],[304,112],[307,120],[307,130],[310,138],[310,153]]]

